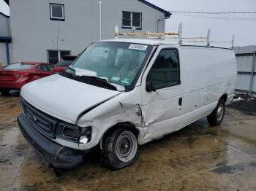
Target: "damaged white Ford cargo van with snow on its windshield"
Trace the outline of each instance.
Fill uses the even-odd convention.
[[[219,125],[233,99],[232,49],[157,39],[94,42],[64,72],[25,85],[23,136],[45,162],[71,168],[99,147],[113,170],[139,147],[202,117]]]

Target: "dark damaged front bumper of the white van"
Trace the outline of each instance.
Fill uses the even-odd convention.
[[[25,139],[46,164],[55,168],[73,168],[83,161],[86,152],[61,146],[46,138],[29,123],[25,114],[18,116],[18,125]]]

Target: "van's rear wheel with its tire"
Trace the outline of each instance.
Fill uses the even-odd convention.
[[[225,101],[220,99],[216,108],[207,116],[208,123],[216,126],[222,123],[225,114]]]

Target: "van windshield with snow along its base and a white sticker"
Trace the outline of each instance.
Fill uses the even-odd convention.
[[[138,78],[152,46],[126,42],[96,42],[72,63],[66,72],[75,76],[93,76],[106,82],[129,86]]]

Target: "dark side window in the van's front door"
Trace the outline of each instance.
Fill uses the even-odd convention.
[[[180,84],[178,50],[165,49],[159,52],[149,76],[156,89]],[[147,81],[150,80],[147,78]]]

